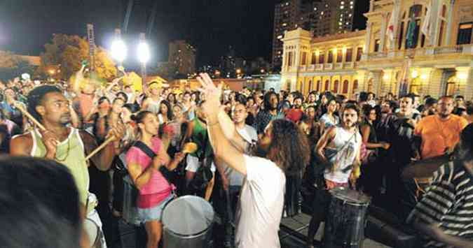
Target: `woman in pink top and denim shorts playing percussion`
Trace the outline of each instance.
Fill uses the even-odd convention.
[[[137,214],[148,234],[146,247],[156,248],[162,233],[161,214],[167,202],[174,198],[172,194],[174,185],[167,182],[159,169],[161,166],[166,166],[168,170],[174,170],[184,159],[184,154],[177,153],[171,161],[163,143],[157,137],[159,121],[152,112],[141,111],[133,115],[132,120],[139,129],[139,140],[157,154],[154,158],[150,158],[138,147],[131,147],[126,154],[128,173],[139,190]]]

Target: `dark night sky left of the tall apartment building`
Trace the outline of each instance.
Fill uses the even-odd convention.
[[[136,41],[158,1],[149,42],[151,64],[167,61],[168,43],[190,41],[198,50],[198,66],[216,64],[233,46],[236,56],[270,59],[274,6],[277,0],[135,0],[125,65],[135,64]],[[52,34],[86,35],[95,26],[95,42],[109,48],[121,27],[128,0],[0,0],[0,50],[39,55]]]

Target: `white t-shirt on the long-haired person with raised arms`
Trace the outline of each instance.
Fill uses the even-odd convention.
[[[247,176],[236,214],[235,245],[239,248],[278,248],[277,231],[284,204],[286,176],[268,159],[243,156]]]

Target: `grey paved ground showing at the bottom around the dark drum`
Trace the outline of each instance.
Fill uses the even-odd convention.
[[[280,242],[282,248],[295,248],[305,247],[305,237],[309,228],[310,216],[308,214],[297,214],[294,217],[287,217],[281,220],[280,226]],[[314,245],[320,247],[320,240],[324,233],[324,224],[320,225],[320,228],[315,235]],[[365,238],[364,248],[386,248],[389,246],[383,245],[379,242]]]

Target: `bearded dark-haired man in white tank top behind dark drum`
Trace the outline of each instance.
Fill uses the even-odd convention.
[[[313,247],[314,235],[320,222],[327,216],[330,204],[329,190],[335,187],[348,187],[348,181],[355,185],[356,171],[359,168],[359,151],[362,136],[357,129],[359,110],[356,105],[348,104],[343,109],[341,126],[331,126],[322,135],[315,147],[320,160],[316,166],[330,164],[324,170],[324,184],[320,185],[313,203],[313,215],[310,219],[307,245]]]

